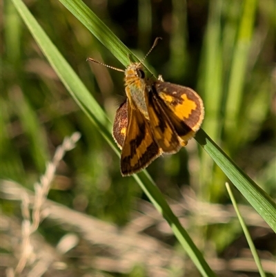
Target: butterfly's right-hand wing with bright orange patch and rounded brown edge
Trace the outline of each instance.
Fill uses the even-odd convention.
[[[155,82],[152,90],[177,135],[187,142],[204,119],[204,105],[199,95],[186,86],[161,81]]]

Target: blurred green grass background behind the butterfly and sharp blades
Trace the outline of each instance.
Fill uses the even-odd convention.
[[[190,86],[201,95],[204,131],[275,198],[275,1],[84,2],[140,58],[155,37],[163,38],[146,63],[167,82]],[[89,64],[86,58],[124,66],[59,1],[25,3],[113,120],[124,100],[124,74]],[[1,3],[1,12],[1,179],[33,190],[63,137],[79,131],[81,140],[59,165],[48,198],[100,220],[128,225],[133,211],[141,211],[139,205],[147,201],[145,195],[133,178],[121,177],[117,155],[61,84],[12,2]],[[229,203],[224,173],[195,140],[176,155],[159,157],[148,171],[172,201],[183,201],[189,189],[199,203]],[[236,196],[246,204],[239,193]],[[2,200],[1,206],[4,214],[20,218],[19,202]],[[196,214],[187,220],[199,248],[210,247],[217,256],[242,236],[235,220],[200,227]],[[40,231],[52,245],[66,233],[47,224]],[[158,237],[154,228],[148,233]],[[159,239],[179,251],[172,235]],[[275,254],[274,248],[264,248]],[[138,275],[118,272],[145,276],[143,270]]]

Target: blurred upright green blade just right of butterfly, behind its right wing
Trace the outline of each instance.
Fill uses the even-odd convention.
[[[223,1],[223,0],[222,0]],[[208,23],[204,37],[204,53],[201,58],[201,68],[199,77],[199,91],[203,92],[205,117],[203,127],[206,132],[219,143],[221,137],[221,99],[222,99],[222,50],[221,50],[221,0],[211,1],[208,12]],[[201,81],[202,79],[202,81]],[[211,95],[211,97],[210,97]],[[200,169],[200,189],[199,195],[202,200],[217,200],[217,195],[221,195],[220,182],[214,182],[215,171],[214,162],[207,153],[201,153]],[[210,186],[212,184],[212,186]],[[210,195],[210,197],[208,197]]]

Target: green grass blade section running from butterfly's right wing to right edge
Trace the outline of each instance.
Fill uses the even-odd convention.
[[[222,151],[210,137],[200,129],[195,137],[204,150],[224,171],[235,187],[244,195],[262,218],[276,232],[276,205],[272,198],[251,180],[242,169]]]

